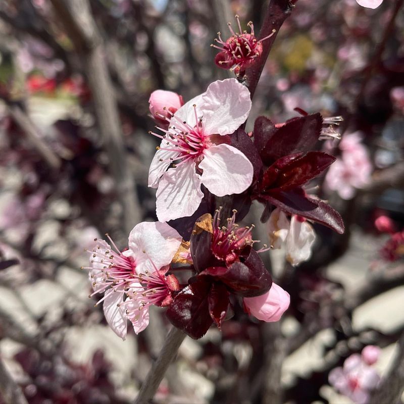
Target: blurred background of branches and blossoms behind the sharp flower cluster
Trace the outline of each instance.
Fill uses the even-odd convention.
[[[346,231],[315,225],[312,258],[296,268],[284,250],[266,252],[291,295],[283,321],[240,311],[222,332],[186,338],[156,402],[351,402],[328,374],[368,344],[383,348],[375,366],[385,374],[404,330],[402,3],[370,10],[355,0],[299,0],[283,24],[247,130],[259,115],[297,116],[296,107],[344,117],[341,143],[322,145],[338,169],[313,192],[341,213]],[[35,404],[135,398],[169,324],[154,311],[144,332],[118,338],[94,308],[97,296],[88,298],[84,248],[107,231],[124,248],[136,223],[156,220],[150,93],[186,101],[229,77],[210,44],[219,30],[228,36],[227,21],[237,26],[235,14],[259,32],[266,7],[0,3],[0,403],[15,402],[7,387]],[[267,242],[261,211],[253,205],[246,223]]]

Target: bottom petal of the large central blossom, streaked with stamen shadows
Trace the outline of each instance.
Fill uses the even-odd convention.
[[[160,180],[156,197],[156,213],[161,222],[191,216],[204,197],[195,163],[170,168]]]

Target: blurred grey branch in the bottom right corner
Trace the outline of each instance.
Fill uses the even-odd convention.
[[[391,404],[401,402],[401,394],[404,390],[404,333],[397,343],[397,355],[391,367],[373,392],[369,402],[379,404]]]

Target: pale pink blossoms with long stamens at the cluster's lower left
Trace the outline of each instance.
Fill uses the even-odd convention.
[[[108,236],[108,235],[107,235]],[[105,240],[95,240],[89,278],[95,293],[104,293],[104,314],[113,331],[125,339],[127,320],[135,333],[148,325],[150,305],[168,306],[179,289],[174,275],[166,275],[182,238],[167,223],[142,222],[129,235],[129,248],[120,251]],[[114,251],[115,249],[115,251]]]

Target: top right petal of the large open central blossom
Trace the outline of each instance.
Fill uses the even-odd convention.
[[[248,117],[251,99],[248,88],[236,79],[214,81],[203,96],[205,133],[228,135]]]

